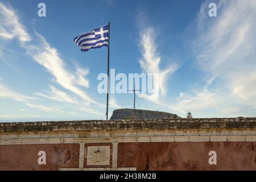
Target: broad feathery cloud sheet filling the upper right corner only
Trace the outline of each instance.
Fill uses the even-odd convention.
[[[197,62],[237,100],[256,108],[256,1],[220,1],[216,18],[205,11],[208,3],[197,18]]]

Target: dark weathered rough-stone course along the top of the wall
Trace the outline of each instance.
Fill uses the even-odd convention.
[[[0,134],[36,131],[256,129],[256,118],[119,119],[0,123]]]

